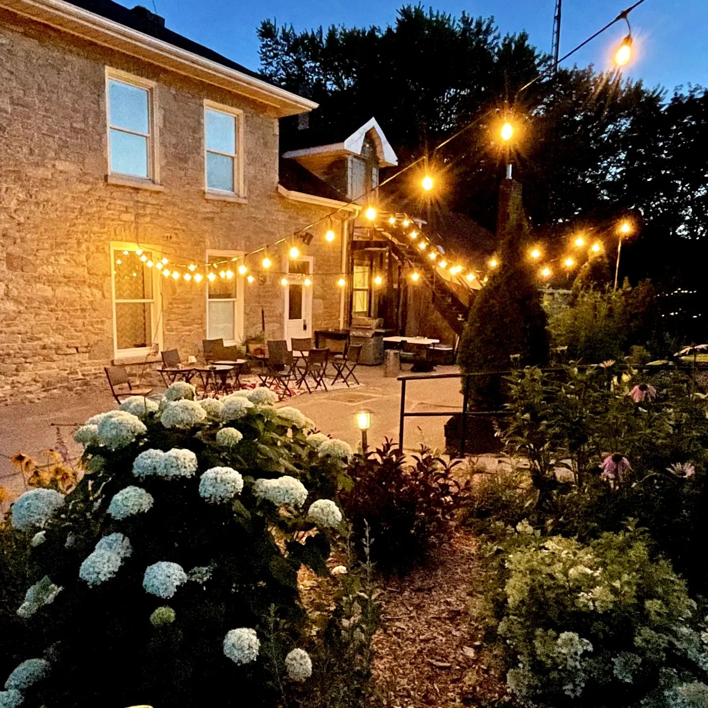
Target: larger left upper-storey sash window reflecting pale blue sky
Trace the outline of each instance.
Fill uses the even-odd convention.
[[[110,172],[154,179],[154,84],[113,69],[106,84]]]

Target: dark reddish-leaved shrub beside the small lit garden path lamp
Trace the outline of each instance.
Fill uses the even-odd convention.
[[[375,452],[357,455],[348,474],[353,489],[342,493],[354,536],[371,529],[371,556],[384,573],[404,572],[442,542],[451,530],[459,487],[451,478],[454,464],[446,464],[421,448],[416,463],[391,440]]]

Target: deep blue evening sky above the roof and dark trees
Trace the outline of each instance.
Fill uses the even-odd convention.
[[[139,0],[121,0],[132,6]],[[292,23],[296,29],[319,25],[384,26],[393,23],[396,0],[154,0],[159,14],[172,30],[244,64],[258,69],[256,27],[265,18]],[[152,9],[152,0],[140,0]],[[561,55],[605,25],[632,0],[564,0]],[[428,4],[426,3],[427,7]],[[554,0],[440,0],[433,8],[459,16],[494,16],[503,33],[527,30],[532,43],[550,50]],[[677,84],[708,86],[708,0],[646,0],[630,15],[636,59],[626,74],[645,84],[669,90]],[[624,23],[617,23],[573,56],[578,65],[607,66],[611,47],[624,37]]]

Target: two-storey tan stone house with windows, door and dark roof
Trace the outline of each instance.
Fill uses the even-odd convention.
[[[280,157],[314,103],[110,0],[0,0],[0,86],[0,401],[347,324],[377,126],[333,186]]]

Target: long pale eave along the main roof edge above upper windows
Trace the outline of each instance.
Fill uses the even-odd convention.
[[[0,7],[78,35],[91,42],[139,57],[179,74],[247,96],[275,109],[275,115],[305,113],[317,103],[223,64],[96,15],[64,0],[0,0]]]

